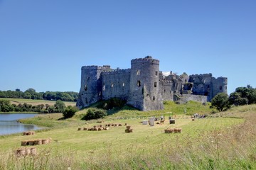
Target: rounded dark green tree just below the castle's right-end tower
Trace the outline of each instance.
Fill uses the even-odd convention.
[[[228,102],[228,94],[220,93],[213,97],[211,104],[213,107],[217,108],[218,111],[224,111],[230,108]]]

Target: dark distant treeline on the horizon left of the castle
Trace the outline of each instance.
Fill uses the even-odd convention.
[[[48,101],[77,101],[78,93],[73,91],[46,91],[36,92],[35,89],[27,89],[21,91],[16,89],[15,91],[0,91],[0,98],[27,98],[27,99],[41,99]]]

